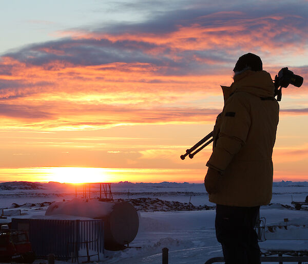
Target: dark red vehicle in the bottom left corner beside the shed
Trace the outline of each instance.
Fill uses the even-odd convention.
[[[27,232],[0,230],[0,262],[32,263],[34,259]]]

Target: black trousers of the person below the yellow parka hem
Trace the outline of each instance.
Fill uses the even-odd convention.
[[[258,236],[254,230],[260,206],[217,204],[216,237],[226,264],[260,264]]]

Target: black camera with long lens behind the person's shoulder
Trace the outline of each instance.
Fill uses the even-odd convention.
[[[281,101],[281,87],[286,88],[289,84],[296,87],[300,87],[303,84],[304,79],[293,73],[293,71],[288,70],[287,67],[282,68],[278,75],[275,76],[275,96],[277,96],[277,101]],[[280,87],[280,89],[279,89]]]

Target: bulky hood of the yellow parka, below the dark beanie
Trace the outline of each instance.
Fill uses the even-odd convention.
[[[264,70],[246,70],[234,77],[234,82],[231,86],[221,86],[221,88],[224,102],[231,93],[238,91],[249,92],[258,97],[274,97],[275,95],[275,86],[271,74]]]

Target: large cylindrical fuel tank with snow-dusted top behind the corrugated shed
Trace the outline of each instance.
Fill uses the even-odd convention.
[[[106,250],[122,250],[137,235],[139,217],[137,210],[128,202],[83,201],[75,198],[49,205],[45,215],[74,215],[104,220]]]

